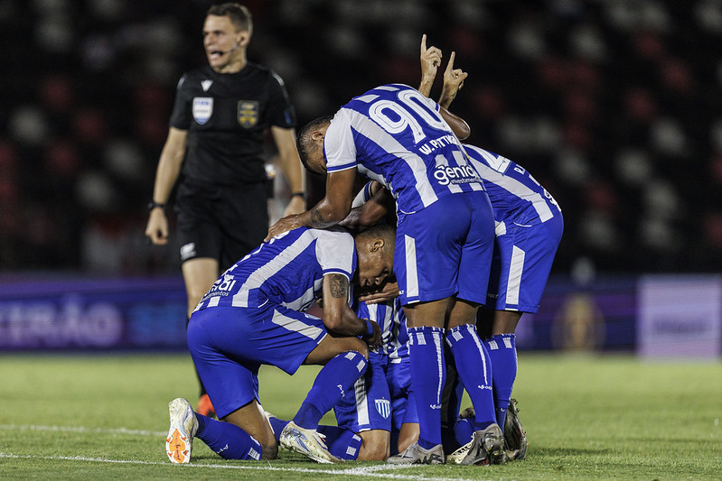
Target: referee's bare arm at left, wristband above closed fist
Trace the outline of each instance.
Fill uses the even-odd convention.
[[[171,196],[173,185],[181,172],[187,137],[188,131],[186,130],[171,127],[168,131],[168,137],[165,139],[158,161],[158,168],[155,171],[153,202],[156,206],[164,206]],[[155,245],[168,243],[168,219],[165,217],[164,208],[151,208],[148,223],[145,226],[145,236]]]

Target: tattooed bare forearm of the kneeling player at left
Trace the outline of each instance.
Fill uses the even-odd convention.
[[[323,276],[323,324],[342,336],[363,336],[372,347],[380,345],[380,328],[373,321],[359,319],[349,307],[349,280],[340,273]],[[369,326],[372,333],[369,333]]]

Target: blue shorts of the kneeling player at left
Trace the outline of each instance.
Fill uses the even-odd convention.
[[[326,336],[323,320],[279,305],[193,312],[188,349],[219,419],[258,399],[258,367],[289,375]]]

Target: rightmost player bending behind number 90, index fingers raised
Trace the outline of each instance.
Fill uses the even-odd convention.
[[[422,81],[419,91],[428,96],[436,68],[429,61],[435,53],[422,46]],[[426,59],[426,60],[425,60]],[[454,53],[449,64],[453,64]],[[448,108],[463,87],[466,74],[446,69],[439,104]],[[495,223],[492,272],[486,302],[477,314],[477,329],[492,362],[492,384],[497,423],[504,427],[507,456],[523,459],[528,446],[511,391],[517,375],[514,331],[524,312],[539,310],[539,301],[549,279],[564,219],[557,201],[529,171],[519,164],[474,145],[464,151],[483,179],[492,202]],[[453,368],[453,366],[452,366]],[[446,413],[453,424],[459,413],[462,388],[451,395]],[[507,409],[511,418],[507,420]],[[458,429],[458,427],[457,427]],[[467,434],[471,430],[467,429]],[[452,460],[464,452],[452,454]]]

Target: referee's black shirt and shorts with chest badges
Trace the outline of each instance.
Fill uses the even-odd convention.
[[[178,82],[170,125],[188,131],[175,202],[181,262],[211,257],[222,272],[266,237],[266,131],[294,128],[294,108],[270,69],[206,66]]]

